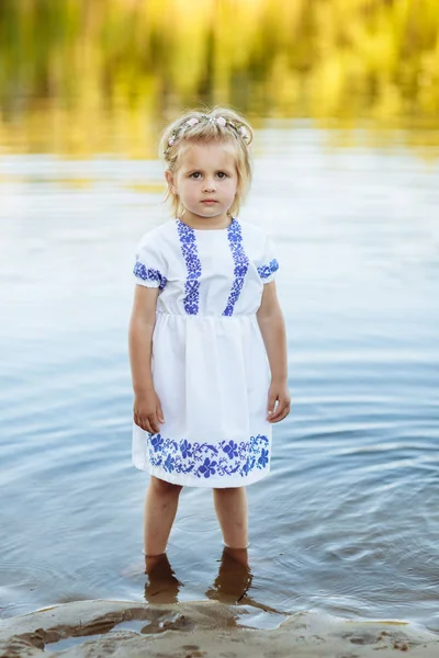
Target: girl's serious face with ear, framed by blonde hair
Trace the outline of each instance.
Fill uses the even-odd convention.
[[[238,186],[233,147],[217,141],[191,144],[181,155],[176,174],[167,171],[166,178],[185,208],[184,220],[215,226],[228,223],[227,211]]]

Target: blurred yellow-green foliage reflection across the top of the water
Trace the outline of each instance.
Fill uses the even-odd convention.
[[[0,2],[8,151],[155,157],[162,123],[201,102],[257,125],[367,118],[374,141],[435,157],[437,0]]]

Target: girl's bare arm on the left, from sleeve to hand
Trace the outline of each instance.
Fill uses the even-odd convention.
[[[153,332],[156,325],[156,287],[136,285],[130,321],[130,363],[134,390],[134,422],[150,434],[164,423],[151,375]]]

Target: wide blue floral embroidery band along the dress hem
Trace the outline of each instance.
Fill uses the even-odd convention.
[[[210,443],[189,443],[165,439],[161,434],[147,434],[147,451],[151,466],[167,473],[190,473],[199,479],[211,476],[248,476],[256,468],[267,468],[269,439],[263,434],[250,436],[249,441],[221,441],[216,446]]]

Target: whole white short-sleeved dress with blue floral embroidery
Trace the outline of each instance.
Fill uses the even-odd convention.
[[[170,219],[137,249],[138,285],[159,287],[151,372],[165,423],[134,423],[133,463],[169,483],[240,487],[268,475],[270,370],[256,318],[279,264],[257,227]]]

